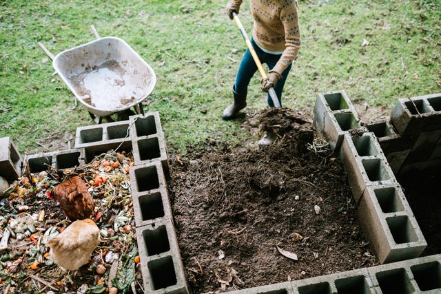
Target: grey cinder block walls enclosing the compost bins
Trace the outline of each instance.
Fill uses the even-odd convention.
[[[391,121],[367,127],[360,123],[344,91],[318,94],[314,107],[317,134],[340,154],[360,218],[380,262],[385,264],[230,293],[440,293],[441,255],[418,258],[427,244],[394,176],[404,165],[420,167],[415,157],[410,160],[408,156],[411,151],[420,151],[428,140],[434,146],[428,158],[441,158],[440,136],[435,135],[436,140],[427,136],[431,132],[438,134],[440,129],[430,129],[439,122],[431,116],[438,117],[441,111],[440,94],[416,100],[415,108],[408,101],[399,101],[402,105],[396,107]],[[422,120],[431,120],[428,133],[408,140],[408,134],[411,138],[418,134],[418,127],[412,124],[424,125],[419,115],[422,111],[428,117]],[[399,125],[402,132],[397,132],[394,125]],[[134,154],[130,182],[145,293],[191,293],[167,195],[170,172],[158,112],[131,116],[128,121],[79,127],[75,149],[30,155],[26,160],[32,172],[43,170],[45,165],[67,169],[116,148],[130,149]],[[0,176],[21,176],[23,160],[9,138],[0,138],[0,167]]]

